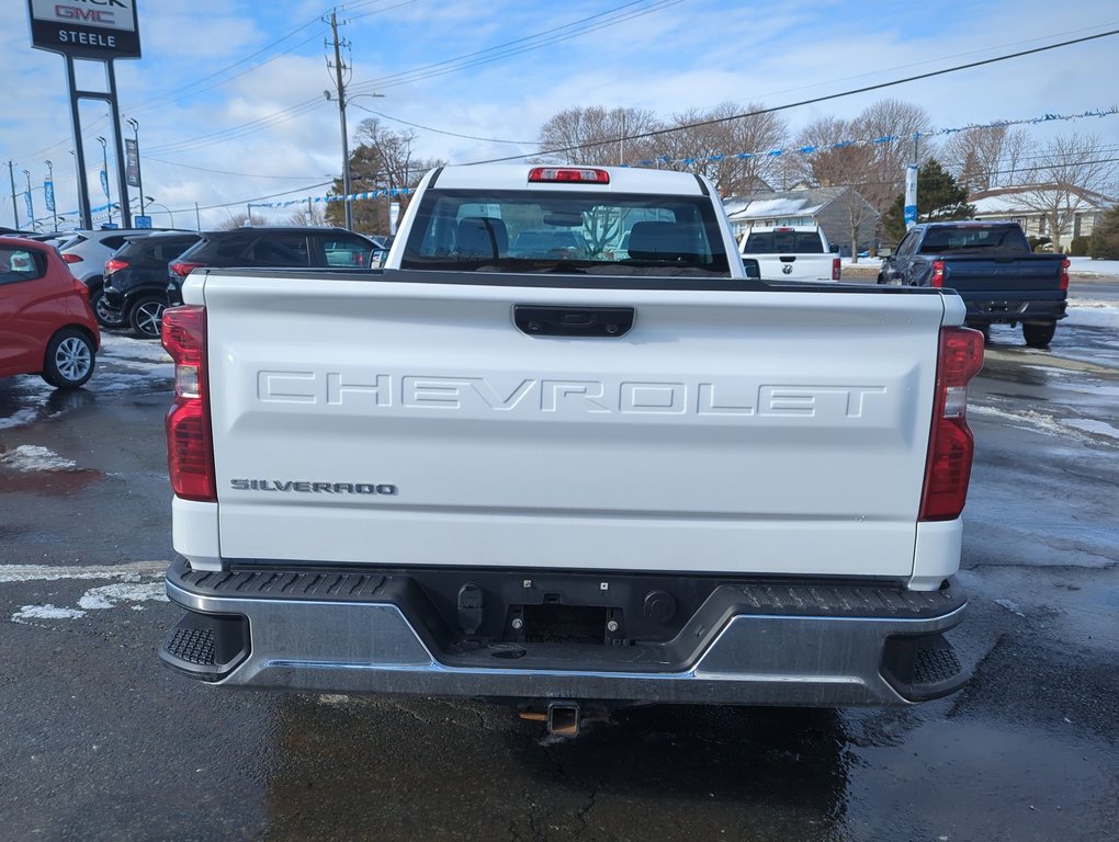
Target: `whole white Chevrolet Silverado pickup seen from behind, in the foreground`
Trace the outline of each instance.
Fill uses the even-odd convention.
[[[586,249],[510,255],[548,228]],[[187,675],[555,730],[966,679],[982,337],[951,291],[749,280],[690,174],[477,165],[424,178],[383,273],[198,269],[184,297],[160,654]]]

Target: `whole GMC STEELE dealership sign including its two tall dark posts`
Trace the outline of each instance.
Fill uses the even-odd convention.
[[[58,53],[66,58],[66,81],[69,87],[70,122],[77,158],[78,207],[82,226],[93,227],[90,210],[90,182],[85,173],[82,149],[82,117],[78,102],[101,100],[109,103],[113,122],[113,145],[116,153],[119,195],[128,196],[125,186],[124,148],[121,143],[121,114],[116,105],[116,73],[113,62],[140,58],[140,27],[137,22],[137,0],[27,0],[31,19],[31,46]],[[105,65],[109,91],[78,91],[74,60],[101,62]],[[124,227],[131,227],[128,201],[121,201]]]

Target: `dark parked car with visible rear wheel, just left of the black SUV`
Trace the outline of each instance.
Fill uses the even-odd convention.
[[[159,339],[167,308],[167,265],[195,245],[197,231],[129,237],[105,263],[104,308],[144,339]]]

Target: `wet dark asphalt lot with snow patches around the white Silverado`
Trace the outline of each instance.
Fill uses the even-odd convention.
[[[483,702],[162,669],[170,366],[109,334],[75,395],[0,380],[0,841],[1117,840],[1119,337],[988,351],[961,693],[614,711],[575,740]]]

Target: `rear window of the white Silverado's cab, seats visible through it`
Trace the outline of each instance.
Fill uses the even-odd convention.
[[[730,276],[706,197],[429,190],[402,267]]]

